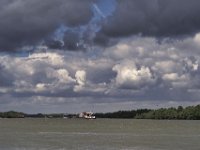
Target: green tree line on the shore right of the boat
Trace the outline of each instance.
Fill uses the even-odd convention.
[[[183,108],[138,109],[113,113],[96,113],[97,118],[200,120],[200,105]]]

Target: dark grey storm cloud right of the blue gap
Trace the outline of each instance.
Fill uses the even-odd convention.
[[[199,0],[118,0],[117,2],[116,11],[105,21],[101,30],[109,37],[133,34],[179,37],[200,31]]]

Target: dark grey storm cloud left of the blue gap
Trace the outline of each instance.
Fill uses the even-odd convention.
[[[0,50],[34,45],[61,24],[78,26],[92,17],[92,0],[0,1]]]

